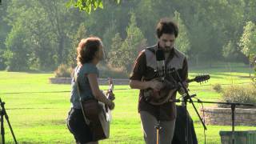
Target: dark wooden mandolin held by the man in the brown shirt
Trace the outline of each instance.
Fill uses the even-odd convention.
[[[210,79],[210,75],[198,75],[193,79],[188,79],[186,82],[204,82]],[[154,78],[154,80],[158,80],[162,82],[162,78]],[[146,102],[149,102],[152,105],[162,105],[166,102],[171,102],[172,96],[177,90],[180,88],[178,82],[170,82],[165,79],[163,81],[163,88],[160,91],[153,90],[151,88],[143,90],[143,97],[146,99]]]

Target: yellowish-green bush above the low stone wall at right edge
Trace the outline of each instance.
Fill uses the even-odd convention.
[[[228,86],[222,90],[222,101],[256,104],[256,87],[253,84],[248,86]],[[221,105],[221,107],[226,106]]]

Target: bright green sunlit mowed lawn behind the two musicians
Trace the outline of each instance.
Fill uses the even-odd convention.
[[[203,101],[220,100],[221,95],[212,89],[215,83],[227,86],[251,82],[248,77],[249,69],[242,64],[220,65],[211,69],[190,69],[190,78],[197,74],[210,74],[211,77],[208,82],[201,85],[190,83],[190,94],[197,94]],[[70,110],[70,85],[50,84],[48,78],[53,76],[54,74],[0,71],[0,98],[6,102],[6,112],[18,143],[74,143],[73,136],[66,128],[66,116]],[[112,112],[110,138],[100,143],[144,143],[137,110],[138,90],[130,90],[129,86],[114,88],[116,107]],[[101,89],[106,90],[107,86],[101,86]],[[201,105],[194,104],[199,111]],[[194,120],[198,143],[204,143],[202,124],[190,103],[188,110]],[[6,121],[4,127],[6,143],[14,143]],[[221,143],[219,131],[231,130],[231,126],[207,126],[207,129],[206,143],[218,144]],[[256,128],[235,126],[235,130]]]

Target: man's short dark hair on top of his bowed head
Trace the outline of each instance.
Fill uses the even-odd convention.
[[[160,38],[162,34],[174,34],[175,38],[177,38],[178,37],[177,24],[174,21],[170,20],[170,18],[162,18],[158,22],[158,26],[157,26],[158,38]]]

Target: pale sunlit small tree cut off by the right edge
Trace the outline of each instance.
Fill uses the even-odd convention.
[[[246,54],[250,58],[250,62],[252,62],[256,54],[256,26],[254,22],[246,22],[240,39],[240,46],[242,53]]]

